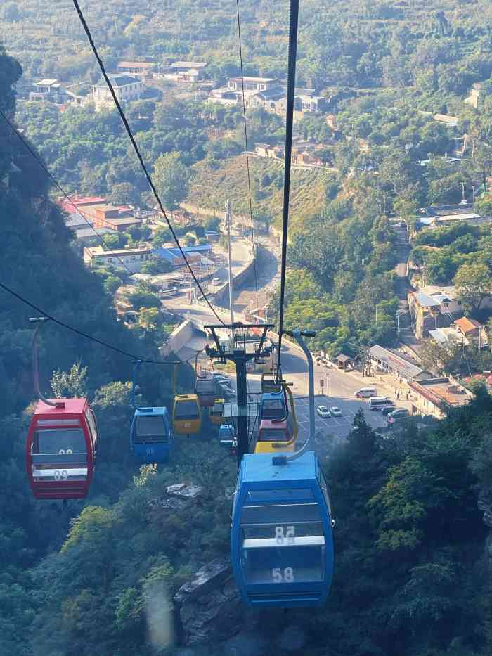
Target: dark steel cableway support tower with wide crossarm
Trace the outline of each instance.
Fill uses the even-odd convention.
[[[255,345],[253,343],[252,350],[250,351],[247,350],[248,342],[246,342],[246,340],[241,344],[241,340],[238,339],[238,333],[240,333],[240,331],[245,331],[247,334],[249,328],[258,328],[257,324],[234,323],[230,326],[204,326],[204,328],[205,330],[211,331],[215,342],[215,347],[209,347],[208,345],[205,347],[205,352],[207,352],[209,358],[212,360],[218,359],[223,364],[226,363],[226,360],[230,360],[235,364],[235,380],[238,388],[238,415],[236,417],[238,426],[238,448],[236,450],[236,455],[238,458],[239,469],[242,456],[247,454],[250,446],[247,425],[249,413],[247,405],[246,363],[247,361],[258,360],[270,355],[270,347],[264,348],[264,342],[266,333],[273,328],[273,323],[261,326],[261,328],[263,328],[263,333],[259,340],[259,344],[257,343]],[[231,330],[231,332],[235,332],[235,342],[231,342],[231,347],[228,349],[224,348],[224,345],[221,344],[219,337],[216,334],[216,330],[222,330],[224,328]]]

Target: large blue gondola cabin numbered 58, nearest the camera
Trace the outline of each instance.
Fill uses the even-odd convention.
[[[242,458],[233,506],[231,558],[245,603],[324,603],[333,574],[330,498],[312,451],[287,465]]]

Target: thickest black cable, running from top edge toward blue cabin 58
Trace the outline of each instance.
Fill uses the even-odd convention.
[[[287,110],[285,117],[285,162],[283,186],[282,220],[282,268],[280,271],[280,314],[278,319],[277,371],[280,371],[282,349],[283,310],[285,298],[285,267],[287,262],[287,231],[289,228],[290,169],[292,160],[292,128],[294,119],[295,66],[297,58],[297,27],[299,23],[299,0],[290,0],[289,60],[287,67]]]

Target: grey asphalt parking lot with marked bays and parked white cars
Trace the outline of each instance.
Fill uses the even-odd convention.
[[[316,413],[316,432],[323,433],[323,436],[335,435],[337,437],[346,437],[351,429],[354,416],[358,409],[363,409],[365,420],[373,428],[379,428],[386,425],[385,418],[379,411],[369,409],[369,399],[359,401],[351,397],[330,397],[329,399],[321,394],[317,394],[316,407],[318,406],[337,406],[342,411],[341,417],[330,417],[322,419]],[[297,415],[297,424],[299,425],[299,443],[303,443],[309,435],[309,399],[308,397],[297,397],[295,399],[295,409]],[[319,437],[318,437],[319,439]]]

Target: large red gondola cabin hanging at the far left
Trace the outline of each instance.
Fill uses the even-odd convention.
[[[25,450],[36,499],[84,499],[94,472],[96,417],[87,399],[38,401]]]

